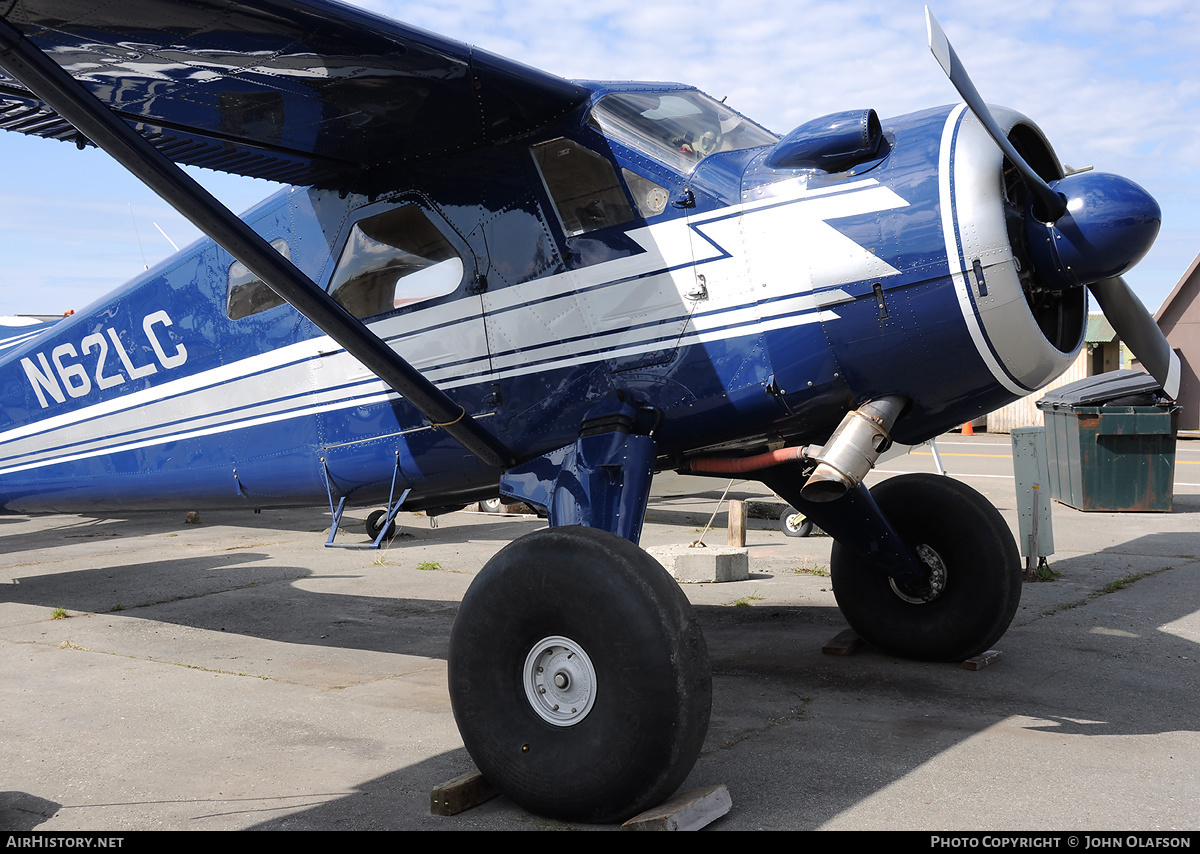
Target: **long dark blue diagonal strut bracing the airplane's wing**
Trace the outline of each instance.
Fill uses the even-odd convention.
[[[346,348],[379,379],[488,465],[509,468],[512,453],[292,261],[96,100],[19,30],[0,18],[0,67],[192,221],[276,294]]]

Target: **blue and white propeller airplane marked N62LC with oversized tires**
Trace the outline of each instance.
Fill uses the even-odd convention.
[[[768,485],[836,541],[863,638],[955,660],[1008,627],[1016,546],[954,480],[869,492],[878,455],[1058,375],[1088,289],[1177,389],[1120,278],[1158,205],[1064,175],[931,16],[966,103],[778,138],[326,0],[2,10],[0,127],[103,148],[209,239],[0,342],[0,505],[386,501],[378,536],[497,491],[545,507],[449,651],[467,748],[534,811],[628,817],[703,742],[703,637],[636,546],[655,471]],[[290,188],[239,218],[179,163]]]

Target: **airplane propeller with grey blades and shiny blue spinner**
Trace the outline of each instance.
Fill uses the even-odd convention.
[[[1180,357],[1121,275],[1150,251],[1162,224],[1153,197],[1133,181],[1082,172],[1046,181],[1021,157],[971,82],[934,13],[925,7],[929,49],[1030,193],[1025,233],[1040,283],[1087,285],[1117,336],[1171,398],[1180,393]]]

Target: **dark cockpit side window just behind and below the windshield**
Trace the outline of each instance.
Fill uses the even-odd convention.
[[[617,173],[605,157],[559,137],[530,148],[568,237],[634,218]]]

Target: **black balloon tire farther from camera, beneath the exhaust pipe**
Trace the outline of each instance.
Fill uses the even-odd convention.
[[[917,559],[944,575],[930,596],[929,585],[894,582],[835,542],[830,576],[846,621],[880,651],[905,658],[964,661],[990,649],[1021,601],[1020,555],[1000,512],[943,475],[892,477],[871,495]]]

